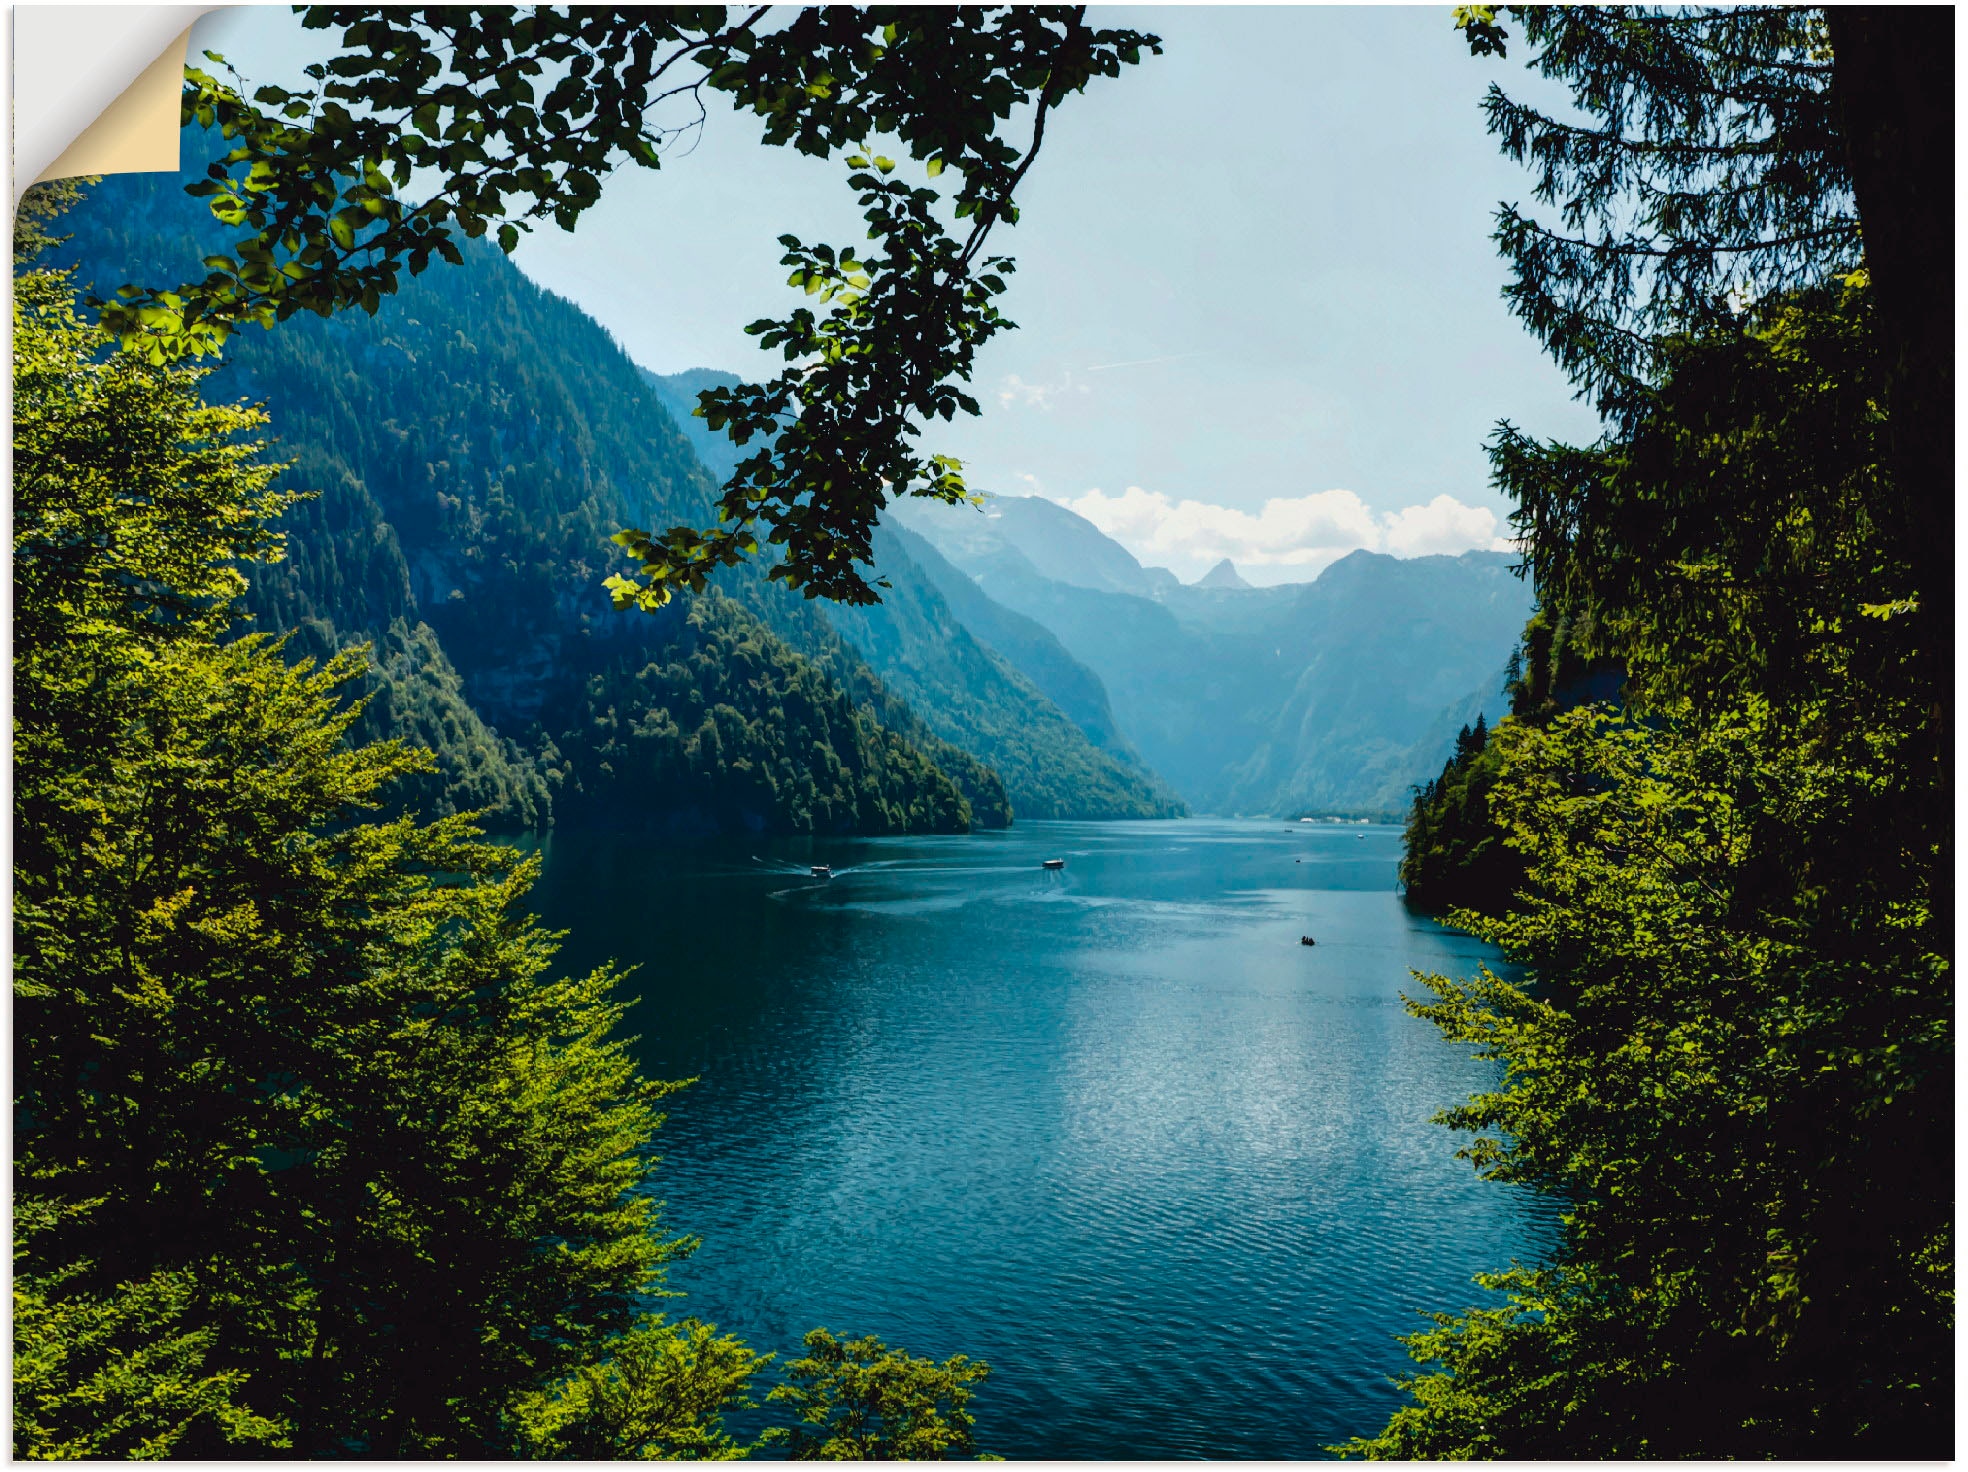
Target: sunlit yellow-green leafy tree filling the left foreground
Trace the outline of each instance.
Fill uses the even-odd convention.
[[[569,1378],[693,1324],[616,976],[555,978],[533,864],[364,821],[362,659],[226,638],[291,500],[260,415],[104,356],[16,279],[16,1450],[508,1454]],[[663,1381],[716,1444],[756,1368]],[[695,1399],[693,1399],[695,1397]]]

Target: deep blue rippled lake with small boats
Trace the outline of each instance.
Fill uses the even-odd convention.
[[[673,1313],[988,1360],[1006,1456],[1301,1458],[1385,1423],[1395,1334],[1553,1240],[1429,1124],[1496,1065],[1401,1010],[1409,970],[1494,952],[1405,911],[1399,840],[559,832],[535,907],[569,964],[640,964],[646,1071],[697,1078],[661,1135],[665,1224],[703,1238]]]

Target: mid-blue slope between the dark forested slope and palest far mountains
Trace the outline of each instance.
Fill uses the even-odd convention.
[[[740,451],[691,415],[705,388],[738,378],[710,368],[683,374],[644,370],[699,460],[728,476]],[[1071,516],[1071,514],[1069,514]],[[1078,521],[1078,518],[1073,518]],[[1122,561],[1126,551],[1112,547]],[[931,732],[988,762],[1004,779],[1012,811],[1033,819],[1157,819],[1183,801],[1149,771],[1120,734],[1100,677],[1041,624],[992,602],[929,543],[899,523],[874,541],[882,602],[829,606],[821,614],[880,679],[919,712]],[[1116,559],[1106,557],[1108,563]],[[795,647],[811,626],[793,618],[803,598],[769,598],[760,614]]]

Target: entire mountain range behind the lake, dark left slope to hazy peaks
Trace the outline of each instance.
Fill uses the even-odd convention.
[[[169,175],[104,181],[65,228],[100,293],[218,244]],[[714,382],[638,370],[486,246],[376,317],[234,337],[207,394],[264,399],[287,482],[321,492],[250,606],[295,653],[374,644],[360,730],[437,752],[417,805],[691,832],[1391,815],[1500,706],[1529,612],[1500,553],[1181,584],[1047,500],[893,508],[880,606],[736,569],[616,614],[608,535],[701,523],[736,459],[689,417]]]

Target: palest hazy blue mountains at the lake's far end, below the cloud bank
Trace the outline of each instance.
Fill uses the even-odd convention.
[[[1504,553],[1358,551],[1309,584],[1204,586],[1143,569],[1039,498],[895,510],[1090,667],[1120,730],[1200,811],[1399,815],[1456,728],[1502,710],[1531,608]],[[1039,545],[1073,547],[1047,565],[1076,577],[1047,573]]]

